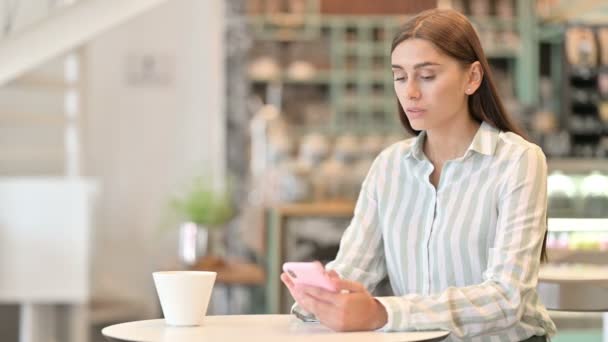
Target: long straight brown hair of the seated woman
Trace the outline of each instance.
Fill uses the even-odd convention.
[[[479,88],[468,98],[468,108],[471,116],[479,123],[485,121],[503,132],[513,132],[524,137],[524,139],[527,138],[523,130],[509,117],[498,97],[490,66],[481,47],[479,37],[464,15],[449,9],[431,9],[420,12],[401,26],[393,39],[391,53],[401,42],[413,38],[424,39],[433,43],[441,52],[456,59],[463,66],[478,61],[483,70],[483,78]],[[418,135],[420,131],[412,128],[403,107],[398,101],[397,104],[399,120],[405,130]],[[547,260],[546,242],[547,232],[545,232],[543,240],[541,261]]]

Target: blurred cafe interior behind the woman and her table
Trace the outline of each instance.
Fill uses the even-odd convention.
[[[601,0],[0,0],[0,340],[161,317],[156,270],[218,272],[209,314],[288,313],[282,262],[331,260],[407,138],[391,39],[434,7],[548,157],[554,341],[608,341]]]

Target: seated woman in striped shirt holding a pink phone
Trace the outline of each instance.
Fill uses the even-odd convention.
[[[546,161],[521,137],[463,15],[429,10],[392,44],[403,126],[417,137],[374,161],[334,261],[340,293],[295,287],[340,331],[451,331],[449,340],[545,341],[536,293],[546,232]],[[394,296],[373,297],[388,276]],[[348,292],[348,293],[347,293]]]

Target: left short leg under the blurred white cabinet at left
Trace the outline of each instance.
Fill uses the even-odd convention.
[[[57,342],[53,305],[21,304],[19,342]]]

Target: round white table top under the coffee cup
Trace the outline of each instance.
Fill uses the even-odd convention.
[[[305,323],[293,315],[207,316],[200,327],[171,327],[163,319],[116,324],[104,328],[110,341],[441,341],[448,331],[339,333],[319,323]]]

